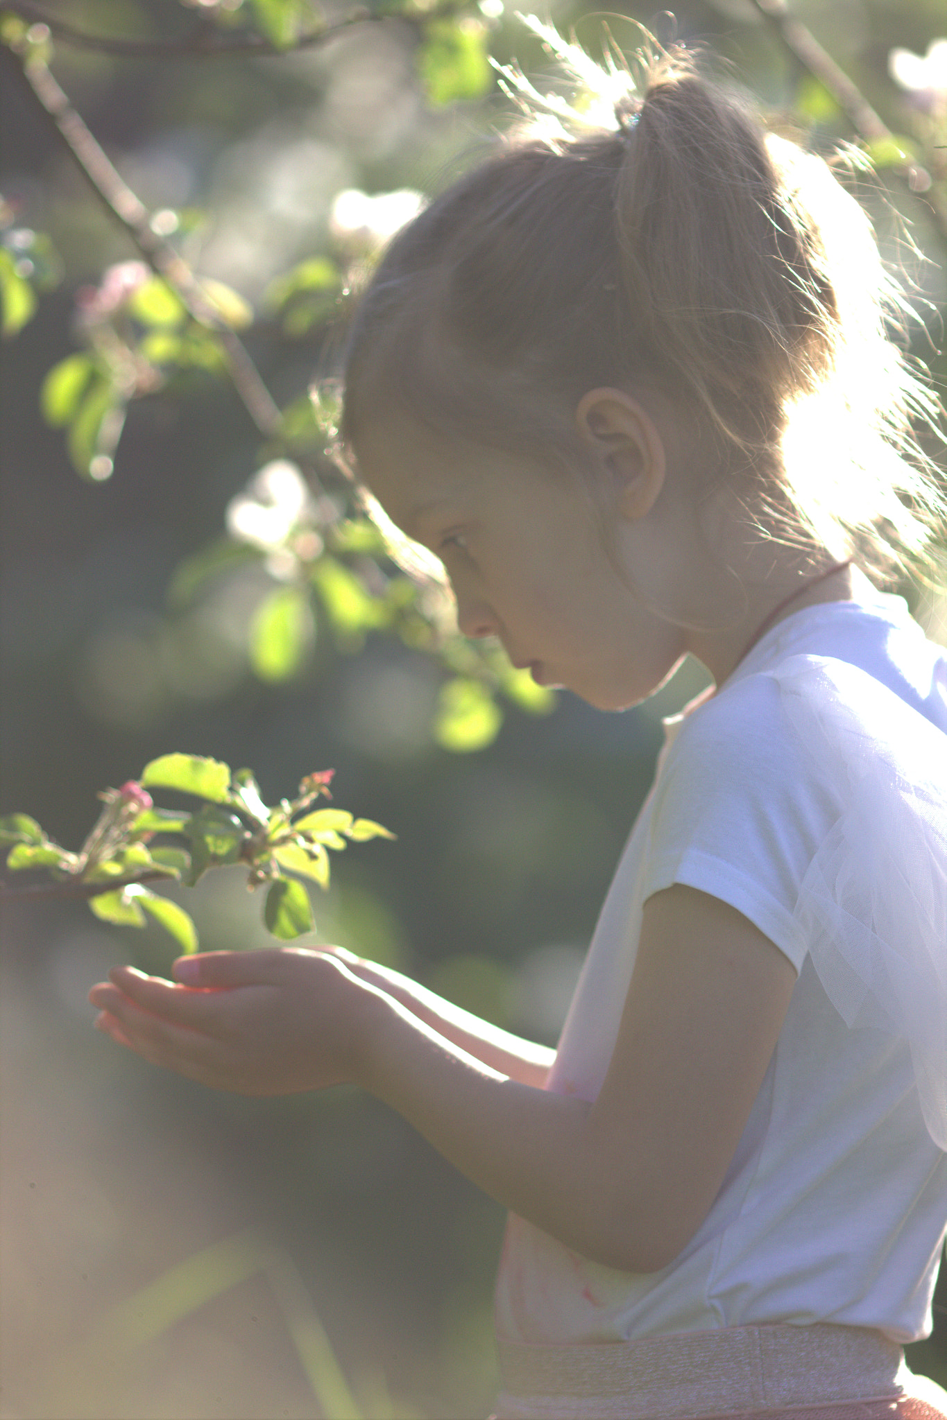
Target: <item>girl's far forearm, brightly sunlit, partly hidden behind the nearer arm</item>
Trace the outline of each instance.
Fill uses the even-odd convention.
[[[481,1021],[478,1015],[444,1001],[443,997],[402,976],[400,971],[379,967],[373,961],[363,961],[342,947],[331,950],[361,981],[379,987],[386,995],[406,1007],[419,1021],[433,1027],[451,1045],[459,1045],[461,1051],[473,1055],[483,1065],[488,1065],[490,1069],[498,1071],[521,1085],[535,1085],[538,1089],[545,1085],[555,1059],[555,1051],[549,1049],[548,1045],[524,1041],[520,1035],[513,1035],[498,1025]]]

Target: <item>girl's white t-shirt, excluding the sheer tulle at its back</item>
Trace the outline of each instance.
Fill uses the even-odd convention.
[[[496,1294],[504,1339],[608,1342],[768,1322],[872,1326],[896,1342],[930,1335],[947,1154],[926,1126],[907,1042],[846,1025],[794,916],[836,809],[777,713],[770,672],[812,657],[860,667],[947,733],[947,653],[900,598],[873,591],[787,616],[710,700],[667,721],[547,1088],[598,1095],[642,905],[672,883],[744,913],[789,957],[797,987],[723,1187],[681,1254],[660,1272],[620,1272],[511,1216]]]

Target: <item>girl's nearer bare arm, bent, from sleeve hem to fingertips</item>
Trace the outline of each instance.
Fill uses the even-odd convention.
[[[656,893],[589,1103],[483,1064],[329,953],[220,953],[175,971],[212,990],[118,967],[91,993],[101,1027],[221,1089],[361,1083],[514,1213],[635,1272],[666,1267],[707,1216],[795,984],[735,909],[690,888]]]

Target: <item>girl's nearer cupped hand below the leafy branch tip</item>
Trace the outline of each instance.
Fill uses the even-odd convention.
[[[356,1081],[376,993],[332,949],[179,957],[176,981],[114,967],[89,991],[95,1025],[153,1065],[240,1095]]]

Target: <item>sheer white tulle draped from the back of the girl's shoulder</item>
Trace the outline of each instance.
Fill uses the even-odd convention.
[[[907,1039],[947,1150],[947,734],[841,660],[794,656],[767,674],[838,811],[794,917],[848,1025]]]

